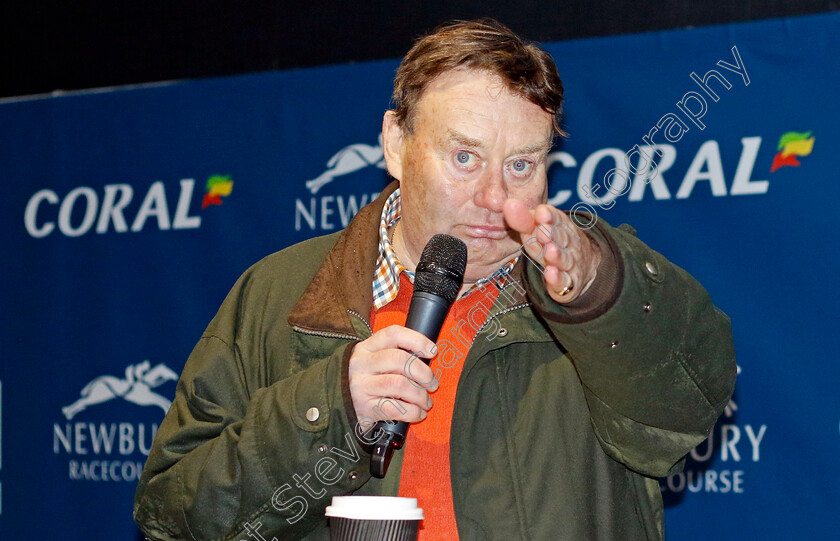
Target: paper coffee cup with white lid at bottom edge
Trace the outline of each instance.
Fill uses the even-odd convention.
[[[333,496],[327,506],[332,541],[415,541],[423,510],[417,498]]]

